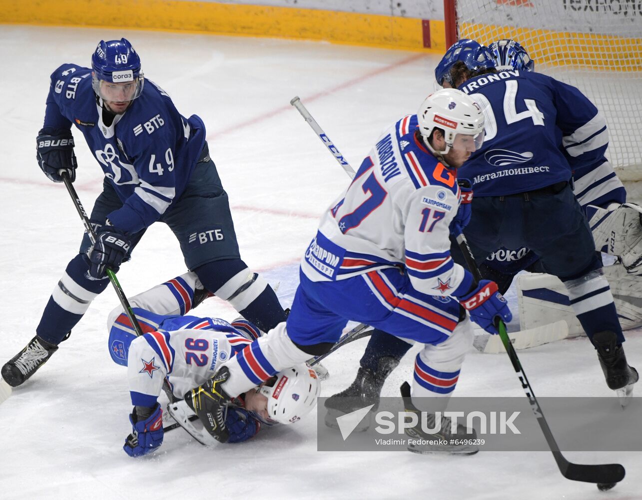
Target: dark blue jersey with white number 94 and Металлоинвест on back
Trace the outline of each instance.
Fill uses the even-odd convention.
[[[473,96],[485,116],[483,146],[458,172],[473,181],[476,197],[570,181],[575,166],[603,161],[606,123],[575,87],[513,70],[476,76],[459,88]]]

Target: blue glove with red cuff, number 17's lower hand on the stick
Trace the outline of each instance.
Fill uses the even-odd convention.
[[[459,302],[471,313],[471,319],[489,334],[497,335],[496,322],[502,319],[507,323],[513,319],[508,303],[497,291],[497,283],[482,280],[469,294],[460,297]]]

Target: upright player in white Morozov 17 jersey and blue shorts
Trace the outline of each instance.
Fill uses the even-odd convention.
[[[480,147],[482,132],[478,105],[454,89],[431,94],[416,115],[385,130],[322,216],[301,260],[287,322],[259,338],[251,356],[239,353],[211,379],[207,403],[215,409],[284,367],[327,352],[353,320],[424,345],[408,411],[422,409],[433,418],[442,411],[471,347],[469,317],[489,332],[496,332],[495,317],[511,317],[496,284],[474,283],[449,253],[461,197],[456,169]],[[463,426],[450,434],[446,422],[442,430],[471,436]],[[415,438],[425,437],[422,432],[408,429]],[[471,454],[477,448],[429,451]]]

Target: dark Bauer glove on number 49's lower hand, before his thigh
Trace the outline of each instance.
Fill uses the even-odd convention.
[[[103,226],[96,234],[96,243],[89,249],[89,276],[102,280],[107,267],[118,272],[121,263],[130,258],[132,244],[129,238],[114,226]]]

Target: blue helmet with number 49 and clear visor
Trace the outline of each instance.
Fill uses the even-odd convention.
[[[141,58],[128,40],[100,40],[91,57],[94,92],[103,100],[132,101],[143,92]]]

